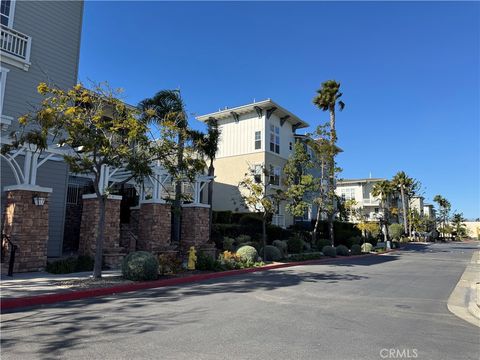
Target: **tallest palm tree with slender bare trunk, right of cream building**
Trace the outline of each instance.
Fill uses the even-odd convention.
[[[329,227],[330,227],[330,241],[332,246],[334,244],[333,233],[333,219],[335,215],[335,154],[337,141],[337,133],[335,130],[335,108],[342,111],[345,108],[345,103],[340,100],[342,93],[340,92],[340,83],[335,80],[327,80],[322,83],[321,88],[317,90],[318,95],[313,99],[313,103],[322,111],[329,111],[330,113],[330,164],[329,164],[329,186],[328,193],[330,195],[330,206],[332,211],[329,214]]]

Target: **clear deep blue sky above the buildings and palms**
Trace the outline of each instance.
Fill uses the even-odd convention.
[[[272,98],[311,125],[335,79],[340,177],[404,170],[476,218],[479,20],[476,2],[87,1],[79,78],[132,104],[180,88],[192,114]]]

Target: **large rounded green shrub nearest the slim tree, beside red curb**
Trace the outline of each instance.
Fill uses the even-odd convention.
[[[158,277],[158,267],[155,256],[146,251],[137,251],[123,259],[122,274],[128,280],[155,280]]]

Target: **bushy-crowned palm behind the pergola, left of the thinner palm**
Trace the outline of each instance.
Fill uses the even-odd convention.
[[[142,100],[139,108],[143,111],[154,110],[155,116],[151,117],[151,121],[158,124],[163,122],[172,122],[178,129],[177,137],[177,166],[179,172],[184,169],[184,151],[186,133],[188,128],[188,116],[185,109],[185,103],[180,94],[180,90],[161,90],[153,97]],[[175,182],[175,201],[173,212],[173,241],[180,241],[180,206],[182,199],[182,183]]]

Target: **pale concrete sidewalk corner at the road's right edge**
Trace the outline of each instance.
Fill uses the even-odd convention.
[[[480,251],[475,251],[448,299],[448,310],[480,327]]]

